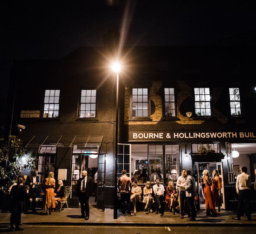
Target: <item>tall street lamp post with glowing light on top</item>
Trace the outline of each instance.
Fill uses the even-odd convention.
[[[119,95],[119,73],[121,71],[120,63],[115,62],[112,65],[112,70],[117,74],[117,93],[116,93],[116,156],[115,156],[115,189],[114,189],[114,219],[117,219],[117,141],[118,141],[118,95]]]

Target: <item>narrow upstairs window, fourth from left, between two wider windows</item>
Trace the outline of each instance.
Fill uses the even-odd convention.
[[[175,95],[174,88],[164,89],[164,117],[175,117]]]

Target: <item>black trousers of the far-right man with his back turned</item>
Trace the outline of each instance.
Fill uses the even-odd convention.
[[[244,207],[245,214],[247,216],[247,219],[251,218],[251,207],[250,207],[250,190],[249,189],[243,189],[239,190],[239,196],[238,196],[238,211],[237,211],[237,217],[241,217],[244,214]]]

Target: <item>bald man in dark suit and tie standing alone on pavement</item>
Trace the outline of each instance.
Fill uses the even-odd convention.
[[[81,216],[79,218],[89,219],[89,198],[93,192],[93,181],[87,176],[87,171],[81,172],[82,178],[77,181],[77,196],[81,206]]]

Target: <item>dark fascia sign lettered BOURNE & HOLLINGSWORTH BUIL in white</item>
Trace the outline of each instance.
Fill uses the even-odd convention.
[[[129,131],[129,141],[195,141],[255,139],[256,132]]]

